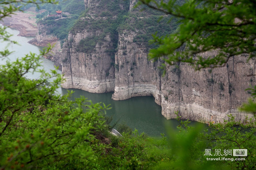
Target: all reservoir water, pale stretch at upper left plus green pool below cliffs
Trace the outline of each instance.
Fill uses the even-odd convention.
[[[29,44],[28,41],[32,39],[32,37],[20,37],[18,35],[18,31],[14,29],[8,28],[9,33],[13,34],[11,40],[18,41],[20,45],[10,44],[8,46],[9,50],[15,51],[9,56],[10,61],[14,61],[18,57],[25,56],[30,51],[32,53],[39,54],[39,50],[41,47],[34,46]],[[3,50],[8,43],[0,42],[0,50]],[[0,64],[5,64],[5,60],[0,60]],[[41,59],[42,68],[46,71],[50,71],[54,69],[54,63],[45,58]],[[61,73],[61,71],[59,71]],[[26,74],[28,78],[36,79],[39,77],[39,73],[29,73]],[[166,120],[161,115],[161,106],[157,105],[154,102],[153,96],[142,96],[142,97],[134,97],[127,100],[112,100],[112,93],[89,93],[86,91],[82,91],[79,89],[69,89],[75,91],[71,100],[74,100],[80,95],[85,96],[92,102],[103,102],[106,105],[111,105],[112,109],[107,110],[107,116],[113,116],[112,124],[119,121],[119,123],[127,124],[131,129],[136,128],[140,133],[145,132],[149,136],[159,137],[160,133],[166,133],[165,125],[169,125],[169,127],[176,128],[178,122],[176,120]],[[58,93],[66,94],[67,90],[64,88],[59,88]]]

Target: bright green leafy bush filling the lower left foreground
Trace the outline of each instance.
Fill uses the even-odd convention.
[[[85,147],[83,141],[92,138],[89,132],[97,127],[97,123],[102,124],[98,120],[99,113],[106,107],[99,103],[84,105],[87,107],[84,112],[84,98],[70,102],[67,95],[55,95],[62,81],[56,70],[52,71],[53,75],[41,70],[42,75],[38,80],[23,77],[28,71],[37,71],[40,56],[27,55],[1,66],[2,168],[42,169],[72,162],[77,157],[85,158],[90,155],[91,149]],[[45,83],[52,76],[56,79],[48,86]],[[80,154],[80,151],[84,154]],[[72,157],[63,162],[67,155]],[[49,162],[55,164],[48,165]]]

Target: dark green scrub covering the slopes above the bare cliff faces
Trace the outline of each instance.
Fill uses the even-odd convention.
[[[94,8],[96,7],[91,7],[89,10],[93,11]],[[143,42],[149,48],[156,48],[158,46],[157,44],[149,43],[149,40],[152,39],[152,34],[156,32],[158,32],[158,36],[170,34],[174,32],[178,26],[176,20],[170,17],[163,17],[160,20],[162,17],[161,13],[150,11],[146,6],[140,8],[144,9],[143,12],[140,12],[140,9],[129,11],[129,1],[101,1],[97,9],[101,9],[101,13],[94,13],[93,17],[86,11],[81,18],[77,20],[71,32],[76,33],[84,29],[100,31],[101,34],[98,35],[97,38],[94,38],[96,44],[100,44],[104,41],[104,37],[110,34],[114,42],[113,49],[115,49],[115,52],[117,51],[118,34],[123,33],[124,30],[137,33],[133,42]],[[114,16],[117,17],[113,18]],[[102,19],[102,17],[104,18]],[[171,24],[169,27],[166,27],[166,23]],[[80,41],[77,51],[88,53],[88,51],[95,47],[92,46],[93,44],[83,39]]]

